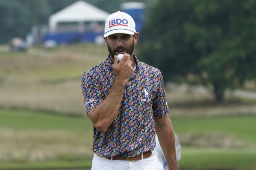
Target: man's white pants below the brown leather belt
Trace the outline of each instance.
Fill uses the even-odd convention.
[[[119,161],[94,154],[91,170],[164,170],[156,155],[138,161]]]

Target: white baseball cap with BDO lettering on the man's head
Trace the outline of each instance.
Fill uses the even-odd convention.
[[[106,19],[104,37],[116,33],[134,35],[135,32],[135,22],[127,13],[118,11],[110,14]]]

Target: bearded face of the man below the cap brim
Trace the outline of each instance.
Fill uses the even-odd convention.
[[[127,53],[132,55],[134,51],[134,37],[129,34],[113,34],[106,37],[106,44],[111,58],[114,55]]]

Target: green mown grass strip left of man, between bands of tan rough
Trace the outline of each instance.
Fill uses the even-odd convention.
[[[51,112],[0,109],[0,127],[15,129],[92,130],[87,116],[57,115]]]

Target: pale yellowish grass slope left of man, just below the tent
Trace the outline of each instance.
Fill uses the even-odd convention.
[[[0,54],[0,77],[10,78],[19,72],[20,78],[26,79],[81,78],[82,72],[104,61],[107,54],[105,46],[90,43],[52,50],[36,47],[28,52],[6,51]]]

